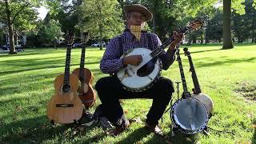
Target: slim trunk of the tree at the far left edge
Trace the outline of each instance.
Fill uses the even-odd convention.
[[[5,4],[6,4],[8,32],[9,32],[9,37],[10,37],[10,52],[9,52],[9,54],[17,54],[15,52],[15,47],[14,47],[14,26],[13,26],[13,23],[11,22],[11,18],[10,18],[10,8],[9,8],[8,0],[5,0]]]

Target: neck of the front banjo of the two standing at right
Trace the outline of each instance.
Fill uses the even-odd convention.
[[[182,78],[182,86],[183,86],[183,94],[185,98],[189,98],[190,97],[190,92],[187,90],[187,86],[186,86],[186,78],[185,78],[185,74],[184,74],[184,70],[183,70],[183,66],[182,66],[182,58],[179,54],[179,49],[177,48],[176,50],[176,54],[177,54],[177,61],[178,61],[178,68],[180,70],[181,73],[181,78]]]

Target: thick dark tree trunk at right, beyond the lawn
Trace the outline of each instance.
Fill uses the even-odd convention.
[[[231,41],[231,0],[223,0],[223,46],[222,49],[232,49]]]

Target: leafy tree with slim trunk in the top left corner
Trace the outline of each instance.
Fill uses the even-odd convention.
[[[14,48],[14,25],[17,19],[25,20],[26,18],[37,18],[35,7],[39,6],[38,0],[3,0],[0,2],[0,13],[2,19],[5,20],[8,26],[10,37],[10,54],[16,54]],[[35,19],[34,19],[35,20]],[[23,21],[24,22],[24,21]],[[17,26],[18,27],[18,26]]]

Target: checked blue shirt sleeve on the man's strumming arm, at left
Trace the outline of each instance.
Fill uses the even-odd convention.
[[[117,73],[123,67],[122,58],[120,55],[120,46],[118,38],[112,38],[109,44],[106,46],[105,53],[103,54],[100,69],[102,73],[113,74]]]

